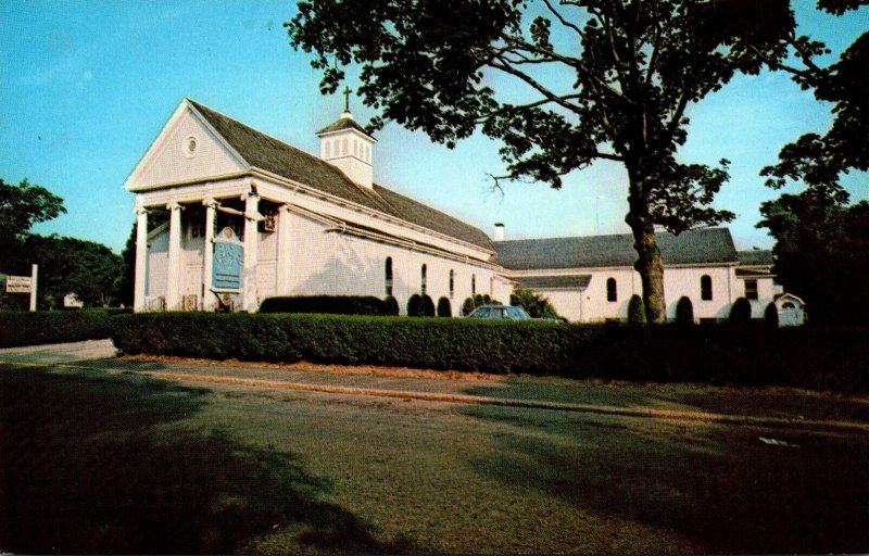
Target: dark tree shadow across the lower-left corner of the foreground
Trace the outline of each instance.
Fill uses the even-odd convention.
[[[0,552],[229,553],[302,531],[293,552],[386,553],[284,452],[181,421],[209,392],[100,371],[0,371]],[[192,427],[188,427],[192,429]]]

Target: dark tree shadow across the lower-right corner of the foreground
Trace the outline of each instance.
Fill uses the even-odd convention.
[[[471,463],[482,476],[602,517],[677,532],[701,552],[860,553],[869,546],[865,435],[481,406],[462,413],[508,425],[496,437],[500,447]],[[791,445],[765,444],[765,434]]]

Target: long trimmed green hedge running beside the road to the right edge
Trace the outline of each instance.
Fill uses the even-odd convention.
[[[167,313],[112,319],[127,353],[869,391],[869,329]]]

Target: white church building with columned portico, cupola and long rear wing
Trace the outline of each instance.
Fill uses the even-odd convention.
[[[127,178],[136,195],[135,309],[256,311],[274,295],[507,301],[542,293],[570,320],[624,319],[641,293],[630,235],[493,240],[373,179],[377,140],[349,111],[317,131],[319,156],[184,99]],[[168,218],[148,229],[148,213]],[[658,235],[667,315],[681,296],[721,319],[782,296],[768,251],[738,252],[727,228]],[[788,299],[793,306],[802,302]],[[802,313],[801,313],[802,318]]]

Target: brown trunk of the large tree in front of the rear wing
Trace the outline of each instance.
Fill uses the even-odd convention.
[[[660,262],[660,249],[655,238],[655,225],[648,214],[645,195],[642,194],[643,184],[640,180],[630,180],[630,206],[625,222],[633,232],[633,249],[638,258],[633,264],[640,273],[643,283],[643,304],[645,318],[648,324],[664,324],[667,319],[667,305],[664,300],[664,265]]]

